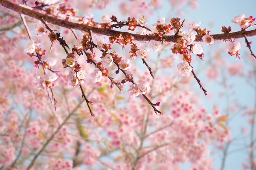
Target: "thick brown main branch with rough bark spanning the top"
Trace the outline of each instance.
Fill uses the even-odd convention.
[[[137,41],[150,41],[154,40],[153,35],[138,35],[138,34],[131,34],[128,32],[121,32],[121,31],[115,31],[111,29],[104,29],[104,28],[96,28],[96,27],[91,27],[91,26],[86,26],[83,24],[78,24],[78,23],[72,23],[64,20],[60,20],[55,17],[51,17],[46,14],[41,14],[38,13],[37,11],[24,8],[22,6],[19,6],[18,4],[12,3],[8,0],[0,0],[0,4],[6,8],[9,8],[13,11],[16,11],[20,14],[27,15],[29,17],[41,20],[43,19],[47,23],[56,25],[56,26],[61,26],[69,29],[76,29],[76,30],[81,30],[81,31],[86,31],[90,32],[93,31],[94,34],[102,34],[102,35],[107,35],[107,36],[113,36],[115,34],[122,33],[122,35],[125,34],[130,34],[134,36],[134,40]],[[231,39],[237,39],[237,38],[244,38],[244,35],[246,37],[256,37],[256,30],[252,31],[237,31],[233,33],[228,33],[228,34],[212,34],[211,36],[214,38],[215,41],[223,41],[223,40],[231,40]],[[177,37],[180,36],[163,36],[163,40],[165,42],[176,42]],[[196,36],[196,39],[194,42],[202,42],[202,36]]]

